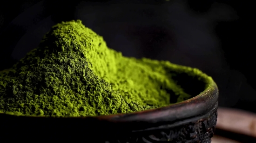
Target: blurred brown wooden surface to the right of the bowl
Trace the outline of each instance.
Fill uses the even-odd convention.
[[[230,136],[230,133],[234,136]],[[243,137],[238,137],[240,135]],[[216,135],[212,137],[212,143],[256,143],[256,114],[219,107]]]

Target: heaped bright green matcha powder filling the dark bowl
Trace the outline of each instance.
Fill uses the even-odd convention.
[[[170,62],[122,56],[80,20],[52,27],[40,45],[0,72],[0,112],[46,117],[136,112],[190,95]],[[176,100],[175,100],[176,102]]]

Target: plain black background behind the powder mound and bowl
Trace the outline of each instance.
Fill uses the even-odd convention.
[[[125,56],[201,69],[219,105],[256,112],[252,0],[6,0],[0,4],[0,70],[34,49],[51,26],[81,19]]]

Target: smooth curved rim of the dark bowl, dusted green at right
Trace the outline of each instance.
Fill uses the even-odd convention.
[[[172,122],[185,118],[191,118],[198,115],[210,114],[216,111],[218,107],[218,87],[213,79],[202,73],[197,68],[190,68],[182,65],[173,64],[179,69],[189,69],[183,73],[191,74],[193,72],[199,75],[200,78],[208,78],[209,82],[205,83],[205,90],[192,97],[179,103],[171,104],[168,106],[158,107],[155,109],[144,110],[139,112],[121,113],[113,115],[94,116],[100,120],[108,120],[110,122]],[[214,110],[214,111],[212,111]],[[86,117],[83,117],[86,118]]]

